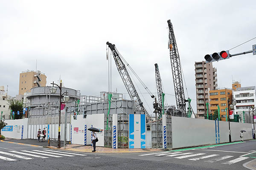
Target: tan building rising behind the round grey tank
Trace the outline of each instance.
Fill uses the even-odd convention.
[[[41,71],[22,71],[20,73],[19,95],[24,95],[31,88],[46,86],[46,75]]]

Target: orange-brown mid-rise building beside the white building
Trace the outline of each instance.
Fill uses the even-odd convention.
[[[220,108],[220,118],[221,120],[226,120],[226,108],[227,108],[227,100],[232,99],[232,89],[223,88],[218,90],[210,91],[210,102],[209,102],[209,113],[214,113],[215,110],[218,110],[218,106]]]

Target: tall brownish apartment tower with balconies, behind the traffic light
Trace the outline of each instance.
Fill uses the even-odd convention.
[[[195,87],[197,117],[204,119],[207,114],[206,103],[209,102],[209,91],[218,87],[217,69],[212,67],[212,62],[195,62]]]

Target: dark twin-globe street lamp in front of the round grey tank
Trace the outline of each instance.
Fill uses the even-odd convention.
[[[54,85],[56,85],[59,89],[60,89],[60,107],[59,107],[59,125],[58,125],[58,148],[61,147],[61,97],[66,94],[66,96],[63,97],[64,102],[68,102],[70,97],[67,96],[67,91],[64,92],[63,94],[61,94],[61,85],[62,85],[62,81],[60,86],[58,86],[57,84],[55,84],[54,82],[51,83],[52,87],[50,88],[50,92],[55,94],[57,91],[57,88],[54,87]]]

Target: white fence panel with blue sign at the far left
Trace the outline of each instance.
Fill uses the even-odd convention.
[[[12,131],[4,131],[2,129],[1,133],[3,136],[7,138],[14,138],[14,139],[26,139],[27,136],[27,127],[28,127],[28,119],[17,119],[17,120],[5,120],[8,125],[11,126]],[[23,126],[23,131],[22,131]]]

